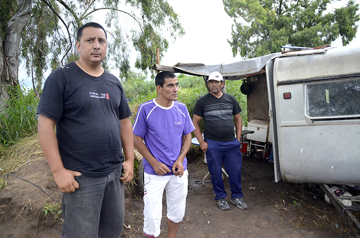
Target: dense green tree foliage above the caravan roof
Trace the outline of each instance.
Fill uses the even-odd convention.
[[[281,46],[317,47],[338,37],[343,45],[356,35],[359,5],[326,11],[332,0],[223,0],[226,13],[235,19],[233,55],[252,58],[280,52]],[[328,13],[327,13],[328,12]],[[246,24],[243,24],[243,22]]]

